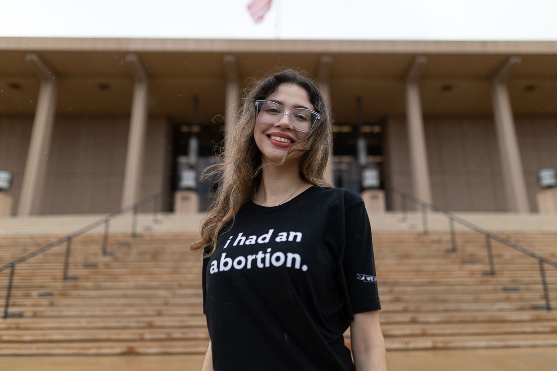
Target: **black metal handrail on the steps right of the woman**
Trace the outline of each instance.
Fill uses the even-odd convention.
[[[400,197],[402,197],[403,221],[407,220],[406,200],[412,201],[415,204],[421,206],[423,233],[424,234],[428,234],[426,209],[429,209],[429,210],[434,211],[434,212],[438,212],[439,214],[443,214],[444,216],[446,216],[449,219],[449,229],[451,230],[451,249],[447,249],[446,250],[447,253],[456,253],[456,251],[457,251],[456,234],[455,234],[455,226],[454,226],[455,221],[458,224],[466,226],[466,227],[470,228],[471,230],[476,231],[477,233],[481,233],[482,235],[484,235],[486,237],[487,259],[488,259],[489,265],[490,265],[490,271],[484,272],[484,275],[492,275],[492,276],[495,275],[495,263],[494,263],[494,258],[493,258],[493,252],[491,250],[491,240],[492,239],[497,241],[497,242],[500,242],[501,244],[507,245],[512,249],[520,251],[522,254],[525,254],[527,256],[530,256],[531,258],[534,258],[534,259],[538,260],[539,267],[540,267],[541,285],[542,285],[543,290],[544,290],[545,309],[551,310],[551,303],[550,303],[550,300],[549,300],[549,289],[548,289],[548,284],[547,284],[546,277],[545,277],[544,264],[548,264],[550,266],[553,266],[553,268],[557,268],[557,262],[556,261],[545,258],[545,256],[540,255],[538,253],[534,253],[534,251],[526,249],[523,246],[520,246],[519,244],[516,244],[516,243],[514,243],[510,240],[502,238],[501,236],[499,236],[495,233],[492,233],[492,232],[490,232],[486,229],[483,229],[482,227],[479,227],[475,224],[472,224],[471,222],[469,222],[465,219],[462,219],[461,217],[456,216],[455,214],[452,214],[452,212],[450,212],[450,211],[443,210],[443,209],[441,209],[441,207],[438,207],[438,206],[435,206],[435,205],[431,204],[431,202],[423,201],[423,200],[419,199],[418,197],[416,197],[414,195],[411,195],[407,192],[404,192],[402,190],[397,189],[396,187],[390,187],[390,191],[393,194],[397,194]]]

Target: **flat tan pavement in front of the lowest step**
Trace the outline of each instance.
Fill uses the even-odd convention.
[[[203,355],[2,357],[11,371],[190,371]],[[389,371],[554,371],[555,348],[412,350],[388,352]]]

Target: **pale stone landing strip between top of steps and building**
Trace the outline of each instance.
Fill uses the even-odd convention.
[[[204,214],[169,214],[158,216],[153,223],[153,214],[139,214],[137,231],[139,234],[157,233],[198,233],[199,222]],[[556,214],[514,214],[511,212],[456,212],[456,216],[472,222],[488,231],[546,231],[557,232]],[[37,215],[28,217],[0,217],[0,235],[57,235],[64,236],[100,220],[105,214],[77,215]],[[402,212],[369,212],[373,231],[412,231],[422,229],[422,213],[408,212],[407,220],[402,221]],[[110,222],[110,233],[126,234],[131,231],[131,215],[120,216]],[[429,231],[449,230],[448,219],[433,212],[427,213]],[[455,223],[457,231],[470,231]],[[89,234],[104,233],[104,225],[91,230]]]

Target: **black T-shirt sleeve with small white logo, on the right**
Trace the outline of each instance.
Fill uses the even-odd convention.
[[[363,201],[345,211],[343,268],[351,314],[381,309],[375,275],[372,229]]]

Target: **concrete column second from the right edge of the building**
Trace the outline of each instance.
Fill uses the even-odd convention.
[[[406,121],[410,147],[410,165],[414,195],[426,202],[432,202],[427,163],[426,136],[423,128],[422,102],[419,92],[419,79],[427,65],[427,58],[417,56],[405,77]]]

